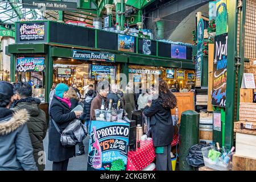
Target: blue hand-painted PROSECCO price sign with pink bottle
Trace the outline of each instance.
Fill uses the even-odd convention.
[[[87,170],[125,171],[129,130],[129,123],[92,121]]]

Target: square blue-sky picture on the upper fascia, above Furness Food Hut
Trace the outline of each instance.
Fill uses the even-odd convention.
[[[134,52],[134,36],[118,34],[118,51]]]

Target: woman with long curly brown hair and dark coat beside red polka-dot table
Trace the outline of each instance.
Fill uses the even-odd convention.
[[[144,114],[150,117],[151,134],[156,153],[156,170],[172,171],[171,142],[174,135],[171,109],[177,105],[166,81],[159,78],[159,95],[148,102]]]

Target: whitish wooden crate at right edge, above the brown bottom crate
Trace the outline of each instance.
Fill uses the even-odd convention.
[[[236,154],[256,158],[256,135],[236,133]]]

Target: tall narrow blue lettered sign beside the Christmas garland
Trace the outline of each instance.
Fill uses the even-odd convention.
[[[196,54],[196,86],[201,86],[201,71],[202,71],[202,61],[203,61],[203,44],[202,42],[197,44],[197,54]]]

